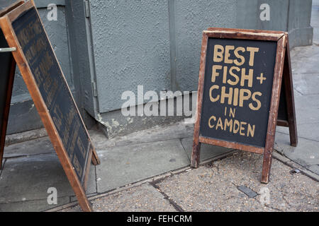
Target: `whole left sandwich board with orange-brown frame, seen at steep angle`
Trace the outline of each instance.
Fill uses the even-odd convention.
[[[99,164],[99,157],[33,0],[2,16],[0,26],[9,47],[16,48],[13,57],[79,205],[83,210],[91,211],[91,203],[85,194],[86,182],[91,161],[94,165]]]

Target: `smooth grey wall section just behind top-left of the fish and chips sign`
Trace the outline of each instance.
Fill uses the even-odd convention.
[[[198,88],[203,30],[209,27],[235,28],[235,0],[176,0],[177,88]]]

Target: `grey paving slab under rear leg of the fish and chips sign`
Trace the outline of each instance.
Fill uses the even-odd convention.
[[[289,135],[276,133],[274,149],[303,167],[319,164],[319,142],[298,137],[297,147],[290,145]]]

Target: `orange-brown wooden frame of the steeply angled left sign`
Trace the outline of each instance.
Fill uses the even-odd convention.
[[[62,143],[62,139],[60,138],[57,132],[57,128],[52,120],[52,117],[50,116],[47,106],[45,105],[45,102],[40,93],[40,90],[38,89],[38,86],[35,83],[35,78],[33,77],[33,74],[30,70],[28,61],[26,60],[26,57],[23,54],[23,49],[21,48],[21,45],[19,44],[16,34],[13,31],[13,28],[11,25],[13,21],[16,20],[18,16],[21,15],[21,13],[28,11],[30,8],[35,8],[36,10],[33,0],[26,1],[25,4],[22,4],[21,6],[18,6],[17,8],[14,8],[12,11],[6,13],[5,16],[0,18],[0,26],[4,32],[4,35],[6,37],[6,41],[9,44],[9,47],[16,47],[16,51],[13,52],[13,57],[16,60],[16,64],[18,65],[18,68],[21,71],[23,80],[26,83],[29,93],[33,99],[33,102],[35,103],[35,107],[37,108],[40,118],[43,121],[45,129],[47,130],[47,134],[50,137],[52,145],[55,148],[55,151],[57,153],[57,156],[60,159],[61,165],[63,169],[65,170],[65,174],[67,174],[67,178],[69,179],[72,189],[74,190],[74,194],[77,196],[79,205],[84,211],[92,211],[91,203],[89,202],[85,194],[86,182],[89,177],[89,167],[91,165],[90,164],[91,161],[93,162],[94,165],[97,165],[99,164],[99,157],[97,156],[96,151],[94,147],[92,146],[92,149],[90,150],[90,153],[89,153],[88,163],[86,165],[84,187],[83,187],[81,182],[79,181],[79,178],[77,177],[77,173],[75,172],[74,167],[72,166],[72,162],[67,155],[67,150],[65,150],[65,147]],[[45,32],[45,35],[47,35],[46,32]],[[48,37],[47,37],[47,40],[49,40]],[[54,53],[53,49],[52,49],[52,52]],[[60,64],[59,64],[59,67],[60,67]],[[60,71],[62,72],[61,67],[60,67]],[[63,78],[65,80],[64,75],[63,75]],[[65,83],[67,84],[66,80],[65,80]],[[68,85],[67,85],[67,88],[69,89]],[[71,91],[69,90],[69,92]],[[77,105],[75,104],[73,97],[72,97],[72,100],[77,109]],[[77,109],[77,114],[79,114],[79,109]],[[82,124],[84,124],[84,121],[80,114],[79,114],[79,117],[82,121]],[[84,126],[84,129],[86,130],[85,126]],[[87,131],[86,133],[89,137],[89,133]],[[93,158],[92,158],[92,154],[93,154]]]

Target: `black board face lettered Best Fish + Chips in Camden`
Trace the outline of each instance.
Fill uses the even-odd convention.
[[[200,135],[264,148],[277,43],[209,37]]]

